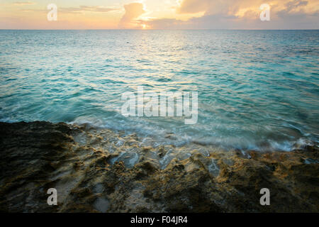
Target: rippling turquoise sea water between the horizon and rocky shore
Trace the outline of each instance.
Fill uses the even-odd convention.
[[[319,31],[0,31],[0,121],[291,150],[318,142],[318,57]],[[121,95],[138,86],[198,92],[198,122],[125,118]]]

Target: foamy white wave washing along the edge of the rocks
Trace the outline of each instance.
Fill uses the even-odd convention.
[[[191,143],[202,146],[214,146],[223,150],[256,150],[260,152],[267,151],[293,151],[296,149],[303,149],[307,146],[315,145],[318,141],[311,141],[308,138],[298,138],[296,140],[273,140],[264,138],[264,140],[252,140],[247,138],[196,138],[186,133],[172,133],[167,129],[143,124],[143,121],[135,121],[134,123],[127,123],[125,121],[119,122],[105,122],[97,118],[80,117],[75,121],[68,122],[77,126],[85,126],[87,129],[96,128],[110,129],[113,131],[123,131],[125,135],[136,133],[142,140],[149,139],[149,145],[157,147],[159,145],[175,145],[184,146]]]

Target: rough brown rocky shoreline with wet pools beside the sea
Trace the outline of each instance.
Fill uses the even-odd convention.
[[[318,212],[319,149],[145,145],[66,123],[0,123],[1,212]],[[57,189],[57,206],[47,189]],[[259,204],[270,190],[270,206]]]

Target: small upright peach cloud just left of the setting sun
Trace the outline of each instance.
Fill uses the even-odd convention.
[[[124,5],[125,13],[121,18],[120,23],[118,24],[119,28],[141,28],[141,25],[138,21],[135,21],[143,13],[146,13],[144,10],[144,5],[142,3],[134,2],[131,4]]]

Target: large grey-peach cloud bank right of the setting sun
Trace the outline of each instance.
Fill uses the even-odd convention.
[[[260,21],[264,0],[184,0],[176,12],[192,14],[186,21],[157,18],[140,21],[150,28],[172,29],[318,29],[319,1],[269,1],[271,21]],[[197,16],[195,13],[203,13]]]

